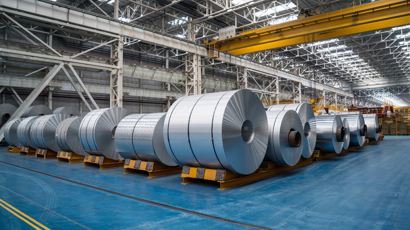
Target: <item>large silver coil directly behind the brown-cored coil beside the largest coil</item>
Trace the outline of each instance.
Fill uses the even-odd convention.
[[[316,145],[316,119],[312,106],[308,103],[282,104],[273,105],[268,108],[268,111],[272,110],[295,110],[298,113],[303,125],[304,144],[302,156],[304,158],[312,156],[314,146]]]

